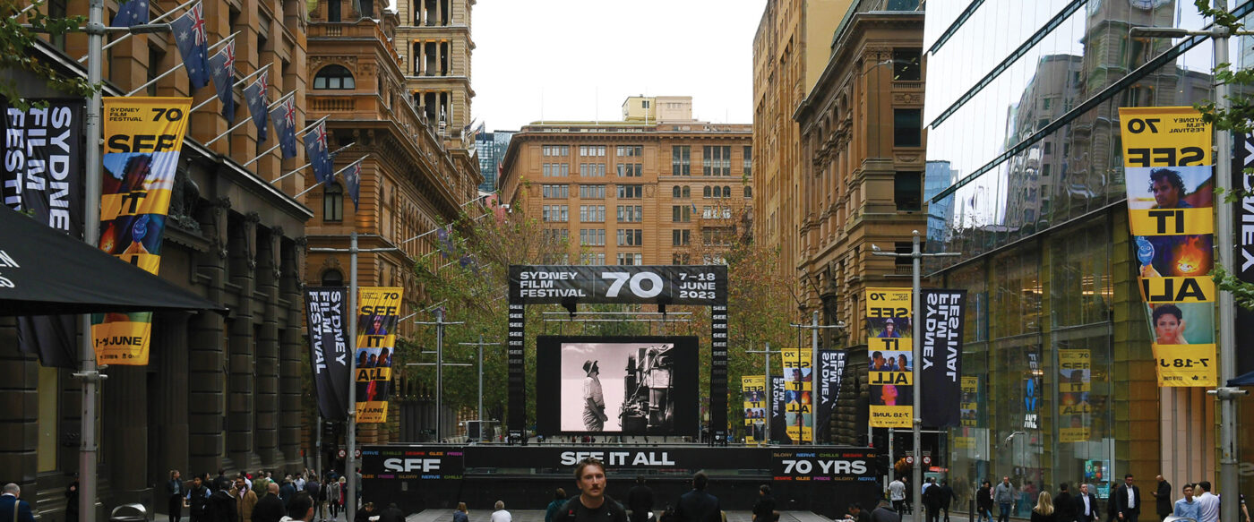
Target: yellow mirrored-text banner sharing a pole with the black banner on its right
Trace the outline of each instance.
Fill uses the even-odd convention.
[[[870,425],[910,428],[914,402],[913,300],[909,289],[867,289]]]

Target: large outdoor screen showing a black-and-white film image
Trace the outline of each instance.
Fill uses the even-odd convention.
[[[697,338],[542,335],[535,346],[540,434],[697,434]]]

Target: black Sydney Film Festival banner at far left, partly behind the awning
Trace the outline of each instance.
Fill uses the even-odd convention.
[[[4,105],[0,197],[35,221],[83,237],[83,100],[45,100],[21,110]],[[50,368],[76,368],[73,315],[18,317],[18,345]]]

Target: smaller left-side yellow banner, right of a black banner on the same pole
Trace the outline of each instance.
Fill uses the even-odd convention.
[[[396,324],[404,289],[366,286],[357,290],[357,353],[354,385],[359,423],[387,422]]]

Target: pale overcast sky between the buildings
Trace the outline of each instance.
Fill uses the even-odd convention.
[[[628,95],[645,94],[691,95],[700,120],[752,123],[766,1],[479,0],[474,118],[488,130],[542,117],[617,120]]]

